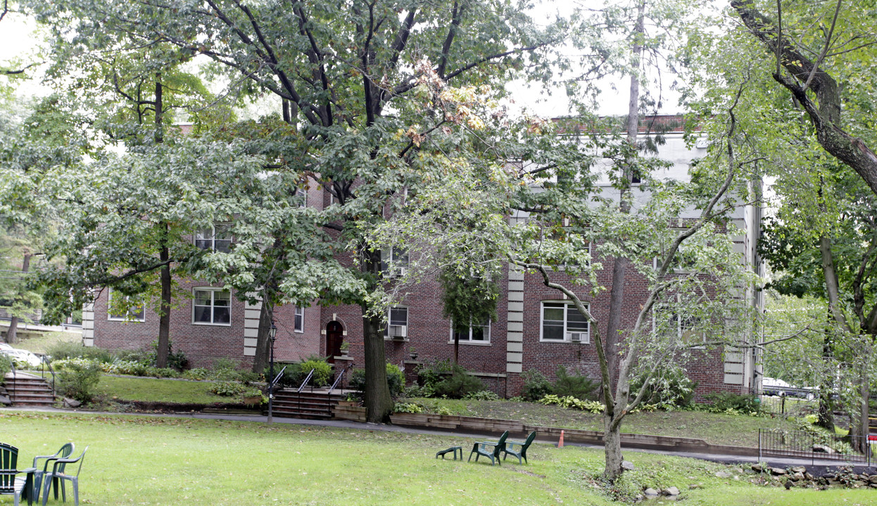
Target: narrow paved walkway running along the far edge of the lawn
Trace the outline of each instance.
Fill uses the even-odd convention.
[[[40,407],[15,407],[15,408],[0,408],[0,412],[4,411],[45,411],[45,412],[58,412],[58,413],[70,413],[77,412],[82,414],[100,414],[100,415],[118,415],[118,416],[131,416],[131,417],[156,417],[156,418],[199,418],[205,420],[232,420],[238,422],[253,422],[253,423],[266,423],[267,417],[261,415],[234,415],[234,414],[225,414],[225,413],[201,413],[201,412],[177,412],[177,413],[119,413],[115,411],[82,411],[82,410],[61,410],[56,408],[40,408]],[[437,436],[448,436],[453,434],[454,436],[460,436],[461,438],[472,438],[472,439],[484,439],[484,438],[495,438],[496,434],[493,433],[475,433],[475,432],[448,432],[448,431],[438,431],[434,429],[421,429],[415,427],[403,427],[399,425],[389,425],[389,424],[371,424],[371,423],[362,423],[362,422],[353,422],[348,420],[311,420],[306,418],[274,418],[275,424],[288,424],[288,425],[317,425],[324,427],[339,427],[344,429],[353,429],[360,431],[381,431],[381,432],[404,432],[410,434],[431,434]],[[556,444],[555,441],[548,441],[545,439],[537,438],[538,442],[541,443],[553,443]],[[581,446],[588,448],[602,448],[600,445],[588,445],[582,443],[565,443],[565,446]],[[642,452],[642,453],[659,453],[659,454],[672,454],[679,457],[689,457],[693,459],[701,459],[701,460],[710,460],[713,462],[720,462],[723,464],[739,464],[745,462],[755,462],[758,460],[755,457],[745,457],[740,455],[717,455],[712,453],[693,453],[693,452],[667,452],[666,450],[643,450],[643,449],[633,449],[633,448],[625,448],[624,452]],[[787,459],[787,458],[779,458],[779,457],[766,457],[764,459],[767,465],[771,467],[791,467],[791,466],[804,466],[807,467],[811,474],[822,475],[829,472],[833,472],[835,468],[838,466],[845,465],[844,462],[839,462],[838,460],[810,460],[810,459]],[[861,472],[862,469],[866,469],[867,467],[857,466],[855,469],[857,472]]]

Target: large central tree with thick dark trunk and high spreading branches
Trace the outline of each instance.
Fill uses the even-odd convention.
[[[545,48],[559,37],[553,25],[538,29],[527,7],[492,0],[34,5],[43,19],[78,20],[70,27],[75,33],[111,31],[132,46],[171,46],[210,60],[227,94],[274,97],[282,119],[296,126],[295,134],[276,142],[296,150],[270,165],[315,174],[339,204],[326,211],[322,226],[333,232],[326,240],[354,266],[338,290],[317,295],[362,309],[372,421],[386,418],[391,400],[384,308],[373,295],[381,291],[381,245],[365,242],[362,231],[382,221],[393,196],[410,184],[424,137],[466,135],[472,128],[465,108],[442,109],[427,88],[501,82],[524,66],[545,65]],[[281,285],[292,299],[311,292],[303,281],[324,265],[303,267],[297,280]]]

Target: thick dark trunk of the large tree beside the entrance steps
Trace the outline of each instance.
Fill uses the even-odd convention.
[[[364,267],[378,278],[381,271],[381,251],[369,251]],[[368,316],[368,307],[362,308],[362,334],[365,343],[366,391],[365,402],[368,410],[367,420],[372,423],[389,421],[393,411],[393,399],[387,384],[387,355],[384,351],[383,318]]]

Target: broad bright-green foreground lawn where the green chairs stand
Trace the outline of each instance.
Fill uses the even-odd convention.
[[[402,432],[0,411],[4,442],[25,462],[74,441],[89,446],[81,499],[88,504],[612,504],[593,479],[599,450],[531,446],[531,462],[491,467],[436,460],[470,439]],[[627,452],[637,469],[615,493],[675,486],[687,504],[870,504],[873,491],[764,488],[739,467]],[[719,480],[726,470],[740,479]],[[689,489],[695,485],[696,489]],[[7,501],[0,499],[0,501]],[[11,502],[11,499],[8,500]],[[3,502],[0,502],[3,503]]]

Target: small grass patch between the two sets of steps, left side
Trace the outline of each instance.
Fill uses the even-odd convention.
[[[214,383],[152,377],[101,376],[96,394],[117,402],[140,401],[175,404],[229,403],[239,397],[217,396],[210,392]]]

